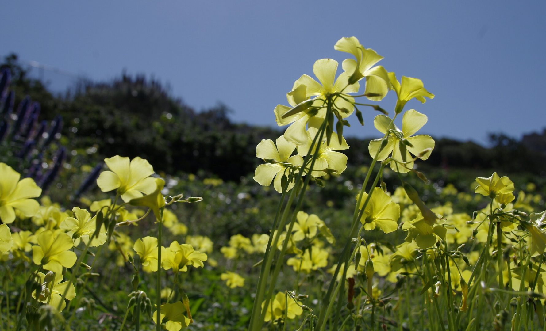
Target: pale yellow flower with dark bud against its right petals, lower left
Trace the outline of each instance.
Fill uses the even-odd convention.
[[[91,214],[86,209],[79,207],[72,208],[72,212],[76,218],[67,217],[62,223],[61,228],[67,230],[67,234],[73,239],[81,238],[87,245],[89,238],[93,236],[97,229],[97,216],[91,217]],[[91,240],[90,246],[96,247],[106,242],[106,228],[104,224],[100,227],[99,235]]]

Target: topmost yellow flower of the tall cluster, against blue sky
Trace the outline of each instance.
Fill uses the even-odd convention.
[[[357,82],[366,77],[366,89],[364,94],[370,100],[379,101],[387,95],[391,88],[387,70],[381,65],[373,67],[374,64],[383,59],[372,49],[365,49],[360,45],[356,37],[341,38],[334,46],[337,51],[351,53],[357,60],[346,59],[343,61],[343,69],[349,76],[348,83]]]

